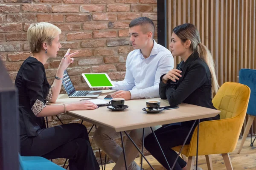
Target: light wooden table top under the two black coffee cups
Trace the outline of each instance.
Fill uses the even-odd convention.
[[[101,96],[98,98],[104,99],[106,95],[112,93],[113,91],[111,90],[103,91]],[[56,103],[49,103],[49,105],[76,102],[81,99],[82,98],[70,99],[68,98],[67,94],[60,94]],[[154,99],[161,101],[161,107],[169,106],[169,102],[167,100],[160,98]],[[128,105],[129,108],[125,109],[124,111],[111,111],[107,107],[99,107],[95,110],[69,111],[67,114],[98,126],[110,128],[116,132],[120,132],[175,122],[204,119],[214,117],[220,113],[220,111],[215,109],[182,103],[179,105],[180,108],[149,114],[142,110],[146,107],[146,101],[148,100],[151,99],[127,100],[125,101],[125,105]]]

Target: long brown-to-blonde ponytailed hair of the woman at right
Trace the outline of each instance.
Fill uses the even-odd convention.
[[[217,93],[219,85],[215,74],[215,64],[212,58],[212,54],[209,49],[201,43],[200,35],[197,28],[191,23],[185,23],[175,27],[172,30],[182,42],[190,40],[190,50],[195,52],[198,51],[199,57],[206,62],[212,75],[212,94]]]

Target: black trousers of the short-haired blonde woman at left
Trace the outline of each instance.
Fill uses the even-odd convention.
[[[22,156],[42,156],[46,159],[67,158],[70,170],[99,170],[87,129],[73,123],[44,129],[38,136],[22,136]]]

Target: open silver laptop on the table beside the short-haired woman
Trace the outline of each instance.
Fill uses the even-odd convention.
[[[62,85],[70,98],[97,98],[102,93],[102,91],[76,91],[67,70],[64,71],[63,78]]]

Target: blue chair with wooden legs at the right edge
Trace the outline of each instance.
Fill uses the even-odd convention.
[[[247,108],[247,114],[249,115],[249,119],[248,119],[247,125],[245,127],[242,142],[241,142],[241,145],[240,145],[237,153],[240,153],[240,151],[244,145],[244,141],[249,133],[250,127],[253,124],[253,120],[256,116],[256,70],[241,69],[239,71],[239,83],[247,85],[250,88],[251,93],[250,93],[250,99],[249,99],[249,104],[248,104],[248,108]],[[251,136],[251,138],[252,138],[252,136]],[[256,137],[255,137],[255,139],[256,139]],[[255,141],[255,139],[253,140],[253,142]],[[253,146],[253,142],[251,139],[250,146]]]

